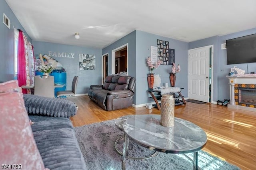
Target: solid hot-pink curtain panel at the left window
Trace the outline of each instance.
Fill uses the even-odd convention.
[[[25,43],[22,30],[19,30],[18,39],[18,85],[26,85],[26,55],[25,55]],[[26,94],[27,90],[22,89],[22,93]]]

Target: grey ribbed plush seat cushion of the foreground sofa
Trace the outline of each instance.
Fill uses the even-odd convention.
[[[86,170],[69,118],[30,115],[32,131],[45,167],[50,170]]]

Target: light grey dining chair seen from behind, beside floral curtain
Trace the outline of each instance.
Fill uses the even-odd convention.
[[[50,75],[36,75],[34,95],[44,97],[54,96],[54,77]]]

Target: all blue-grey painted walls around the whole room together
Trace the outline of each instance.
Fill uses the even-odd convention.
[[[14,79],[14,28],[20,28],[24,31],[28,40],[31,42],[30,37],[26,34],[26,31],[21,26],[20,22],[13,14],[12,10],[8,6],[5,0],[0,1],[0,16],[6,14],[10,19],[11,29],[7,28],[2,22],[0,23],[0,81],[8,81]],[[134,97],[134,104],[144,104],[152,102],[148,98],[146,89],[147,85],[147,73],[149,69],[146,63],[146,58],[150,55],[150,45],[156,46],[156,40],[169,41],[170,48],[175,49],[175,63],[180,64],[181,71],[176,76],[176,86],[184,87],[182,94],[188,97],[188,49],[197,47],[203,47],[207,45],[214,45],[214,63],[213,63],[213,101],[229,99],[229,85],[226,75],[230,72],[230,68],[234,65],[227,65],[226,50],[221,49],[221,43],[225,43],[226,40],[246,36],[250,34],[256,34],[256,28],[245,30],[242,32],[236,32],[234,34],[228,34],[225,36],[214,36],[195,42],[181,42],[170,38],[142,32],[133,31],[127,36],[124,36],[120,40],[108,45],[104,49],[78,47],[73,45],[62,45],[56,43],[36,42],[33,41],[34,53],[48,54],[48,51],[56,52],[70,52],[75,53],[73,59],[56,57],[67,71],[67,89],[71,89],[71,82],[75,75],[79,76],[78,81],[78,94],[87,93],[90,85],[101,84],[102,75],[102,54],[108,53],[108,73],[111,73],[111,51],[121,45],[128,43],[128,71],[129,75],[136,78],[136,94]],[[79,71],[78,68],[78,54],[88,53],[96,55],[96,70],[94,71]],[[245,69],[247,71],[247,64],[236,64],[238,68]],[[170,85],[169,73],[171,65],[160,67],[154,70],[155,74],[160,74],[162,83],[168,83]],[[256,71],[256,63],[248,63],[248,71]]]

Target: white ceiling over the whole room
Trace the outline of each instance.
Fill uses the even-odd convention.
[[[32,40],[83,47],[104,48],[134,30],[192,42],[256,28],[256,0],[6,2]]]

